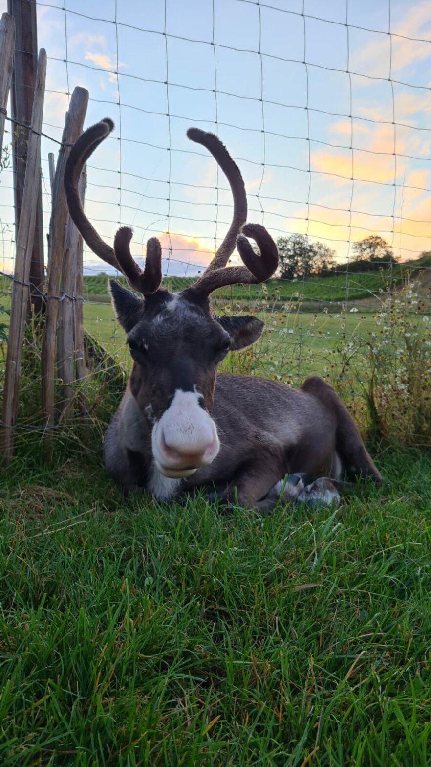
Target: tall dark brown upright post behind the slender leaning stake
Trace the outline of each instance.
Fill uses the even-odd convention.
[[[8,0],[8,12],[15,19],[15,54],[14,72],[12,77],[12,123],[13,152],[12,164],[14,169],[15,194],[15,233],[18,239],[18,226],[24,193],[25,165],[28,155],[28,127],[31,124],[33,94],[35,91],[36,69],[38,66],[38,31],[36,19],[36,3],[34,0]],[[31,269],[29,280],[35,285],[30,290],[31,304],[35,311],[41,311],[43,301],[41,291],[44,288],[44,232],[42,219],[42,181],[39,170],[38,188],[36,195],[35,237],[31,253]],[[30,304],[29,304],[30,305]]]

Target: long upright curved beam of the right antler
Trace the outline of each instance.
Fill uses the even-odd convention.
[[[229,261],[235,249],[235,242],[239,232],[241,232],[242,225],[247,220],[247,196],[239,167],[234,163],[228,150],[214,133],[207,133],[205,130],[200,130],[200,128],[189,128],[187,137],[191,141],[202,144],[211,152],[223,173],[225,173],[233,196],[232,223],[216,255],[212,258],[212,262],[206,267],[204,272],[204,275],[206,275],[209,272],[224,267]]]

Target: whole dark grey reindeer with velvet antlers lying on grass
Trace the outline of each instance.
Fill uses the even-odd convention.
[[[242,175],[219,138],[198,128],[187,132],[212,153],[229,181],[232,224],[202,276],[172,293],[160,287],[158,239],[147,242],[142,270],[130,253],[132,230],[118,229],[113,249],[82,208],[77,191],[81,170],[113,128],[109,118],[88,128],[72,147],[64,173],[71,218],[85,242],[140,294],[109,281],[133,359],[127,389],[104,439],[110,476],[125,491],[144,488],[163,501],[191,489],[216,488],[222,501],[235,498],[239,505],[262,511],[272,509],[279,495],[331,502],[338,498],[334,484],[344,470],[381,481],[354,420],[322,378],[310,377],[295,390],[274,380],[217,373],[229,351],[257,341],[264,323],[253,316],[219,317],[211,311],[209,296],[225,285],[265,281],[278,265],[266,229],[246,223]],[[255,240],[260,255],[247,238]],[[243,265],[229,267],[235,245]],[[322,475],[307,485],[308,476]]]

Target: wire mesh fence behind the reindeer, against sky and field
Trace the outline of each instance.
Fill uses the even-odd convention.
[[[428,327],[426,5],[36,5],[38,44],[48,53],[41,133],[45,243],[51,215],[48,153],[58,150],[71,92],[82,85],[90,93],[86,125],[105,115],[116,124],[113,137],[87,165],[87,216],[107,242],[119,225],[131,226],[138,260],[146,238],[159,236],[163,271],[174,288],[205,268],[232,216],[222,173],[188,142],[186,129],[197,125],[217,133],[239,164],[248,220],[263,223],[278,240],[285,269],[267,286],[229,288],[216,297],[220,311],[252,310],[266,320],[258,347],[229,360],[235,370],[291,383],[310,373],[334,380],[346,377],[355,353],[359,361],[355,373],[350,364],[350,379],[357,381],[370,339],[390,337],[396,354],[393,301],[403,304],[410,272],[416,287],[405,288],[406,301],[417,302],[416,324]],[[0,2],[0,11],[5,6]],[[10,115],[7,120],[0,176],[6,307],[15,258]],[[327,262],[294,263],[295,236],[308,256],[323,252]],[[369,242],[361,250],[358,243],[370,237],[379,237],[380,244]],[[123,332],[100,275],[106,271],[84,248],[84,295],[76,298],[84,298],[87,330],[127,364]],[[57,298],[63,297],[61,292]],[[400,332],[409,331],[403,326]]]

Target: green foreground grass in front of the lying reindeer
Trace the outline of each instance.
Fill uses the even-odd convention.
[[[262,520],[39,439],[0,490],[2,765],[431,763],[429,455]]]

